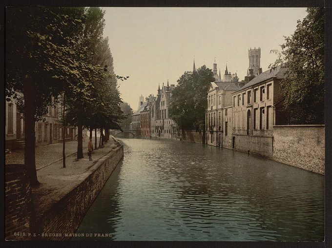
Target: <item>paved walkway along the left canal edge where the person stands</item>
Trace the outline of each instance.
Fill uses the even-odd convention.
[[[73,188],[80,185],[95,169],[94,165],[102,161],[104,156],[116,149],[118,145],[110,137],[104,148],[93,151],[93,161],[89,161],[86,149],[84,149],[83,159],[77,161],[76,154],[66,157],[65,168],[62,168],[62,160],[60,160],[39,169],[37,177],[41,184],[32,188],[37,219]]]

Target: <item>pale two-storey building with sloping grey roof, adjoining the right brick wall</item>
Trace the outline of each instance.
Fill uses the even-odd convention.
[[[286,68],[267,70],[232,93],[232,148],[272,157],[273,108],[283,96],[279,82]]]

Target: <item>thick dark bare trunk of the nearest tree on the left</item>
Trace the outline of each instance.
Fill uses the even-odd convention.
[[[24,146],[24,165],[27,168],[31,186],[38,186],[36,170],[36,133],[35,133],[35,112],[36,103],[34,100],[34,83],[26,83],[24,88],[24,117],[25,117],[25,146]]]

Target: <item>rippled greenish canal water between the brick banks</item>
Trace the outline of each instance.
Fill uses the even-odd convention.
[[[123,161],[76,231],[92,237],[72,240],[324,240],[322,175],[202,144],[121,142]]]

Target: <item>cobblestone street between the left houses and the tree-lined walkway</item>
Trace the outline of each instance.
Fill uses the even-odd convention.
[[[86,155],[87,139],[83,142],[83,153]],[[66,157],[77,152],[77,141],[66,142]],[[87,155],[86,155],[87,156]],[[36,147],[36,168],[50,165],[62,159],[62,143]],[[24,149],[14,150],[5,157],[6,164],[24,164]]]

